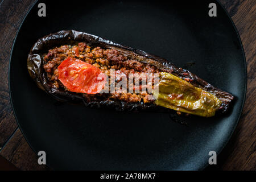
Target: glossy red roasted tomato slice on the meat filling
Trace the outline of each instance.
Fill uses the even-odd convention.
[[[99,68],[68,57],[58,67],[59,80],[71,92],[96,94],[104,88],[106,76]]]

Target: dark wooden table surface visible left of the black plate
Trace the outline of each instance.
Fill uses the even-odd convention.
[[[16,124],[8,88],[8,67],[13,41],[27,11],[35,1],[1,1],[0,4],[0,154],[22,170],[46,169],[28,146]]]

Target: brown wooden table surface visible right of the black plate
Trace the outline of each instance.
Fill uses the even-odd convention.
[[[237,27],[245,50],[247,64],[247,92],[241,119],[227,146],[218,156],[218,165],[207,169],[256,170],[255,123],[255,46],[256,2],[221,1]]]

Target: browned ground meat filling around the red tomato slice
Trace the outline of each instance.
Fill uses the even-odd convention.
[[[115,69],[116,73],[123,73],[127,77],[129,73],[159,73],[156,67],[141,63],[137,60],[128,59],[123,56],[119,51],[114,49],[102,49],[100,47],[91,48],[86,43],[79,43],[75,46],[65,45],[50,49],[46,55],[44,55],[43,68],[47,73],[48,81],[53,88],[59,89],[65,88],[65,86],[58,80],[59,73],[57,67],[67,57],[76,57],[86,63],[92,64],[97,68],[100,68],[102,72],[110,76],[110,69]],[[120,81],[118,77],[115,82]],[[127,87],[128,88],[128,87]],[[109,93],[109,94],[96,94],[89,95],[83,94],[88,101],[95,100],[98,97],[105,97],[109,100],[121,100],[126,102],[153,102],[149,93]]]

